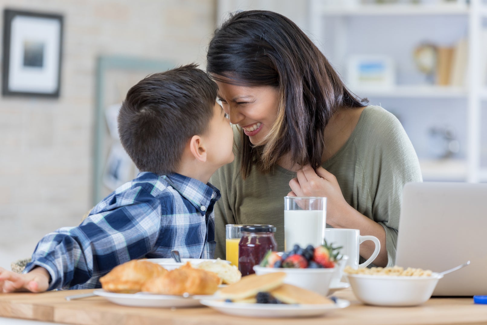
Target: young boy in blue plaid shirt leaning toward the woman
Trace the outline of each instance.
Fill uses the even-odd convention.
[[[77,227],[44,236],[23,274],[0,268],[0,292],[100,287],[115,266],[143,257],[213,258],[208,183],[233,161],[233,132],[217,86],[190,64],[139,81],[118,115],[120,141],[140,173]]]

